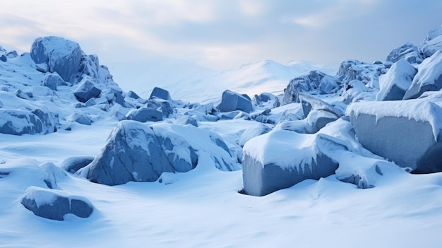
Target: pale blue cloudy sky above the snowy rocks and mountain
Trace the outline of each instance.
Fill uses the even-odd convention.
[[[261,59],[337,65],[419,45],[441,10],[440,0],[14,0],[0,4],[0,45],[29,52],[56,35],[102,64],[161,54],[217,71]]]

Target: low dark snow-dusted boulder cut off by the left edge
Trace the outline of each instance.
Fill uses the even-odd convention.
[[[25,110],[0,109],[1,134],[42,134],[43,123],[35,114]]]

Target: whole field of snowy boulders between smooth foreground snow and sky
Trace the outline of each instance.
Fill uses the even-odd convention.
[[[85,218],[93,203],[61,189],[60,180],[162,182],[207,165],[242,167],[243,192],[253,196],[332,175],[370,188],[390,173],[441,172],[441,37],[441,29],[431,31],[420,46],[393,49],[385,63],[349,59],[335,76],[311,71],[283,95],[226,89],[218,105],[174,100],[163,88],[149,99],[126,93],[96,55],[60,37],[40,37],[21,56],[0,47],[2,135],[116,123],[95,157],[33,166],[39,176],[21,203],[44,218]]]

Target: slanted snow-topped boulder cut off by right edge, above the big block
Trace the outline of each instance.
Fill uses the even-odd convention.
[[[419,98],[425,91],[438,91],[442,88],[442,50],[419,64],[412,85],[404,95],[404,100]]]

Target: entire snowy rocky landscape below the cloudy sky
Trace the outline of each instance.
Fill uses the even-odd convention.
[[[192,66],[153,92],[121,89],[58,37],[32,46],[62,54],[41,63],[0,47],[0,247],[440,247],[442,32],[430,35],[338,73]],[[394,85],[424,90],[380,101]]]

